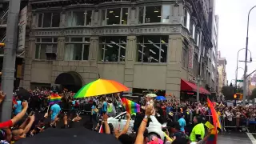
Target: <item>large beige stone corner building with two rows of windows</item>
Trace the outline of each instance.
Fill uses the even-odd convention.
[[[200,6],[194,0],[30,0],[21,86],[76,90],[100,76],[130,92],[165,90],[180,98],[181,91],[195,91],[199,51],[212,47]]]

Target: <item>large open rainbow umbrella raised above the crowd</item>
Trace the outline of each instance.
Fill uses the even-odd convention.
[[[94,82],[88,83],[86,86],[82,86],[78,93],[74,95],[74,98],[86,98],[102,94],[118,93],[127,90],[129,90],[129,88],[123,86],[119,82],[99,78]]]

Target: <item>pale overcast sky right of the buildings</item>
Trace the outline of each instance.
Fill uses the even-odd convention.
[[[216,14],[219,16],[218,50],[221,57],[226,58],[227,79],[230,83],[235,79],[236,59],[238,50],[246,47],[247,15],[256,0],[216,0]],[[256,69],[256,7],[250,13],[249,45],[253,62],[248,64],[248,73]],[[245,50],[241,50],[238,60],[245,60]],[[250,53],[248,53],[250,60]],[[238,62],[244,69],[245,63]],[[242,78],[243,70],[238,69],[238,78]],[[232,80],[234,83],[234,80]]]

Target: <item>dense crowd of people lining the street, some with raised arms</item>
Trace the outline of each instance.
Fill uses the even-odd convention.
[[[160,123],[166,123],[164,127],[168,138],[162,139],[164,143],[203,143],[207,141],[210,133],[204,126],[206,115],[210,109],[206,102],[180,102],[177,98],[168,101],[157,101],[146,97],[138,102],[141,112],[138,114],[126,114],[126,125],[123,130],[109,124],[108,118],[126,111],[122,105],[119,94],[110,94],[92,98],[74,99],[74,93],[63,90],[59,95],[62,102],[49,106],[50,94],[58,92],[46,89],[29,90],[30,98],[24,98],[22,94],[14,93],[13,117],[7,122],[0,123],[0,143],[13,143],[21,138],[33,137],[48,128],[62,125],[64,129],[72,128],[74,122],[82,120],[81,111],[90,110],[90,130],[113,134],[122,144],[161,143],[159,138],[150,137],[146,127],[150,119],[156,118]],[[0,102],[5,94],[0,92]],[[89,108],[88,108],[89,107]],[[86,110],[85,110],[86,109]],[[241,118],[255,121],[256,109],[254,106],[229,107],[225,103],[215,103],[220,120],[228,119],[238,124]],[[42,115],[40,115],[42,114]],[[188,118],[187,115],[192,117]],[[134,119],[133,132],[127,134],[131,117]],[[50,121],[48,120],[50,119]],[[208,119],[209,120],[209,119]],[[236,121],[234,121],[236,120]],[[210,131],[209,131],[210,132]]]

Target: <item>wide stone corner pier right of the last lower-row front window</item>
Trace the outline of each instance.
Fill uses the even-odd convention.
[[[169,35],[166,68],[166,94],[180,98],[182,72],[182,35]]]

